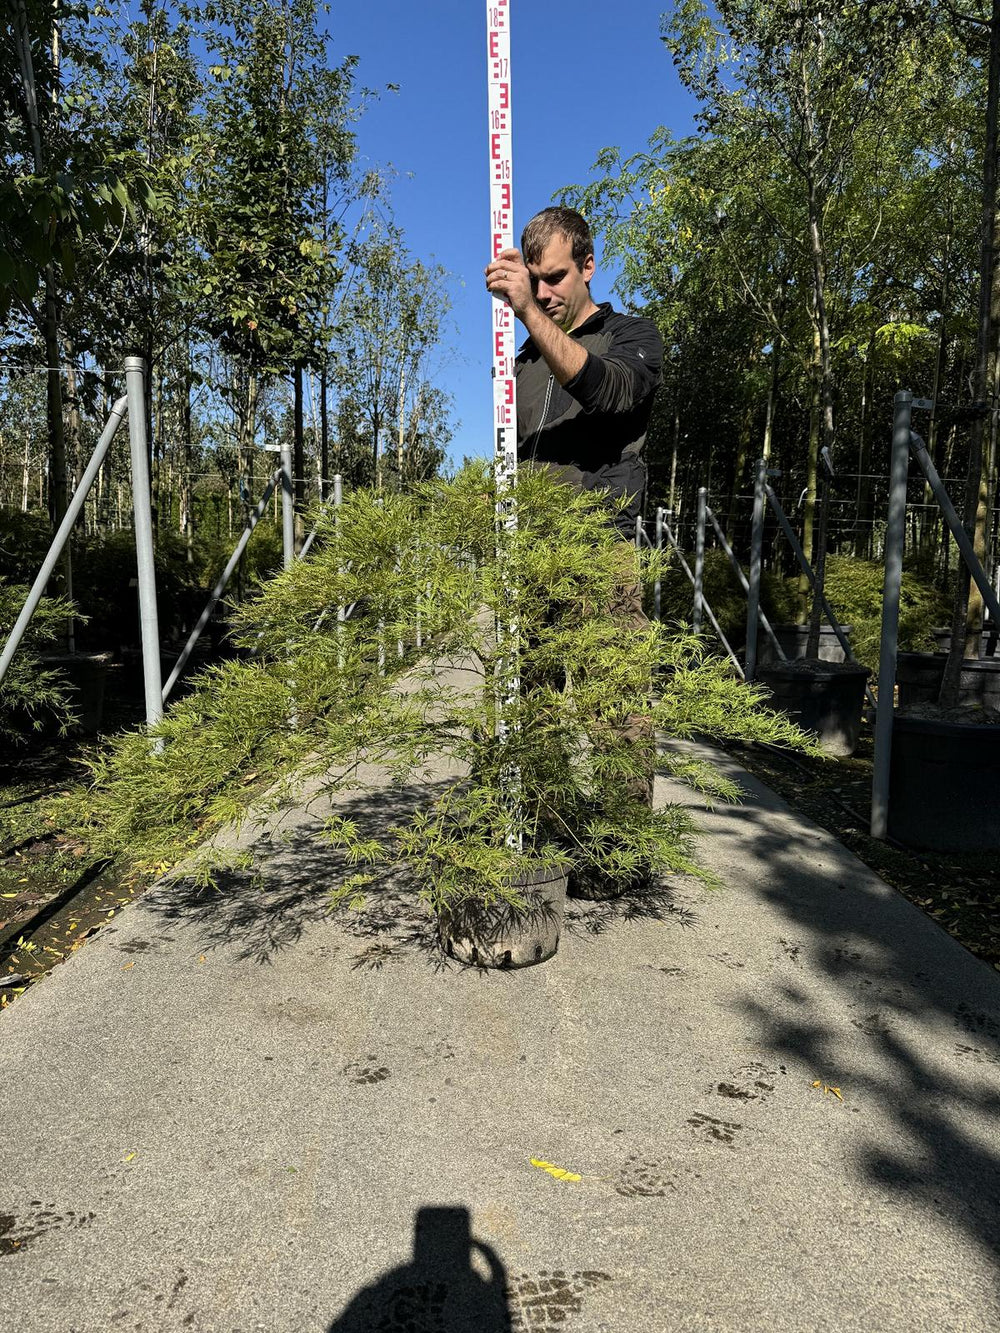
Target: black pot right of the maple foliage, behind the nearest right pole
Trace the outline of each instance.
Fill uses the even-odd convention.
[[[812,732],[827,754],[853,754],[861,734],[864,686],[869,676],[859,663],[799,661],[761,666],[757,680],[771,690],[775,708],[805,732]]]

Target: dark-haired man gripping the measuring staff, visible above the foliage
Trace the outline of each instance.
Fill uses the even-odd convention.
[[[488,265],[487,288],[507,299],[529,335],[515,363],[519,461],[607,491],[611,501],[627,497],[615,523],[633,540],[663,344],[652,320],[593,301],[595,268],[580,213],[545,208],[524,228],[521,251],[503,251]]]

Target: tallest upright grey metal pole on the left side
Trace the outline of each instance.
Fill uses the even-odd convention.
[[[128,443],[132,452],[132,512],[135,515],[139,572],[139,625],[143,640],[145,721],[147,726],[155,726],[163,717],[163,674],[160,672],[160,621],[156,613],[149,447],[145,439],[145,363],[141,356],[125,357],[125,396],[128,399]]]

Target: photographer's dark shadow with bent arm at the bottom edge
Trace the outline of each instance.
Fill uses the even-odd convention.
[[[421,1208],[411,1262],[363,1288],[328,1333],[509,1333],[513,1326],[507,1270],[472,1236],[469,1210]]]

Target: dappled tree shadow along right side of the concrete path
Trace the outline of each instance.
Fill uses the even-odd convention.
[[[872,1133],[856,1134],[848,1164],[861,1180],[948,1217],[996,1262],[1000,976],[832,834],[801,817],[792,826],[773,793],[744,785],[744,805],[712,814],[720,836],[740,838],[745,882],[731,870],[729,888],[785,917],[776,942],[803,982],[784,985],[780,1008],[745,994],[740,1010],[776,1060],[801,1061],[868,1113],[859,1124]]]

